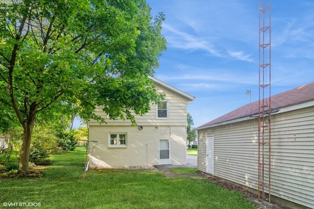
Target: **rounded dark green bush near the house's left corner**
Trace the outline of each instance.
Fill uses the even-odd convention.
[[[61,147],[63,151],[73,151],[78,143],[77,138],[74,136],[73,131],[60,131],[56,134],[59,138],[57,146]]]

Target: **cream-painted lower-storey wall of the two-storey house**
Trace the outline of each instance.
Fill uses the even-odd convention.
[[[127,133],[126,148],[109,148],[109,133]],[[90,167],[149,167],[158,165],[158,139],[169,139],[171,164],[186,164],[185,127],[92,126],[89,139],[98,141],[89,157]],[[92,144],[91,144],[92,146]]]

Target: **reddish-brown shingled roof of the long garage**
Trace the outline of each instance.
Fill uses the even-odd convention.
[[[314,82],[271,96],[271,109],[275,110],[285,106],[304,103],[311,100],[314,100]],[[267,101],[269,101],[269,98],[267,98]],[[259,101],[241,106],[219,118],[216,118],[198,127],[197,129],[204,129],[215,124],[250,117],[253,115],[257,115],[258,112]]]

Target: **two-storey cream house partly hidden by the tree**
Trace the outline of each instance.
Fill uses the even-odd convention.
[[[98,141],[89,155],[90,167],[150,167],[186,164],[186,105],[195,97],[151,78],[164,100],[144,116],[130,121],[106,119],[107,124],[88,122],[89,140]],[[97,114],[106,117],[101,108]]]

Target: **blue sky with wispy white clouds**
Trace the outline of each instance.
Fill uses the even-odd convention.
[[[196,97],[201,126],[259,98],[259,0],[147,0],[165,14],[155,77]],[[272,95],[314,81],[314,1],[271,4]]]

